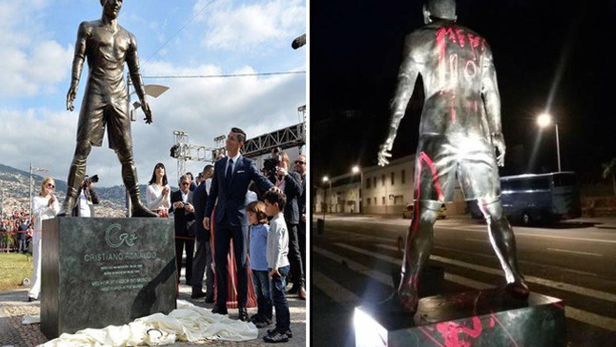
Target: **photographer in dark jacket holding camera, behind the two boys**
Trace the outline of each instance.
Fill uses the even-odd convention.
[[[275,166],[273,165],[274,163]],[[291,264],[291,282],[293,283],[288,293],[298,294],[300,299],[306,299],[304,269],[298,238],[298,226],[301,222],[298,198],[304,192],[302,177],[298,172],[290,171],[291,160],[288,154],[280,151],[280,148],[272,151],[272,158],[265,159],[264,167],[267,177],[286,195],[284,215],[286,226],[289,230],[288,259]]]

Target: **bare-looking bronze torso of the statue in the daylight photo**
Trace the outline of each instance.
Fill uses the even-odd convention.
[[[86,49],[85,56],[89,67],[86,93],[126,98],[124,83],[124,62],[132,52],[132,34],[117,26],[115,33],[103,27],[100,20],[84,22],[83,29]]]

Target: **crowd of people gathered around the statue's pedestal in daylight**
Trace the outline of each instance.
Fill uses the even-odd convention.
[[[146,204],[158,217],[174,219],[178,285],[185,254],[185,284],[192,286],[193,299],[214,303],[215,314],[237,308],[240,320],[259,328],[274,324],[275,308],[275,328],[264,340],[288,341],[292,333],[286,295],[306,299],[306,157],[298,156],[291,170],[288,154],[275,153],[275,175],[268,178],[256,162],[242,156],[245,141],[243,130],[232,128],[225,144],[227,156],[206,165],[196,179],[189,172],[182,175],[177,191],[171,190],[166,168],[159,162],[147,186]],[[92,190],[91,182],[83,189]],[[53,178],[44,178],[33,199],[32,218],[15,213],[0,227],[4,235],[23,235],[24,245],[26,238],[32,239],[34,270],[28,301],[39,298],[41,284],[41,233],[36,230],[60,212],[54,190]],[[81,210],[89,210],[92,195],[84,194]],[[22,250],[21,243],[18,249]],[[256,306],[257,314],[248,317],[247,304]]]

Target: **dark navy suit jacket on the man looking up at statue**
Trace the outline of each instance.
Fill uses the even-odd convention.
[[[261,175],[253,160],[241,155],[238,157],[230,183],[227,185],[225,172],[228,159],[228,157],[224,157],[214,164],[214,177],[212,177],[212,186],[209,188],[205,217],[211,218],[214,205],[216,204],[216,215],[214,215],[216,225],[219,225],[224,217],[227,217],[229,227],[241,227],[241,220],[246,215],[244,201],[250,182],[254,181],[257,188],[263,192],[269,190],[274,185]],[[216,198],[218,202],[216,202]]]

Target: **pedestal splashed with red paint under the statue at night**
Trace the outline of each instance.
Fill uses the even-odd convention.
[[[501,290],[419,300],[415,316],[387,305],[355,308],[356,346],[565,346],[561,299]]]

